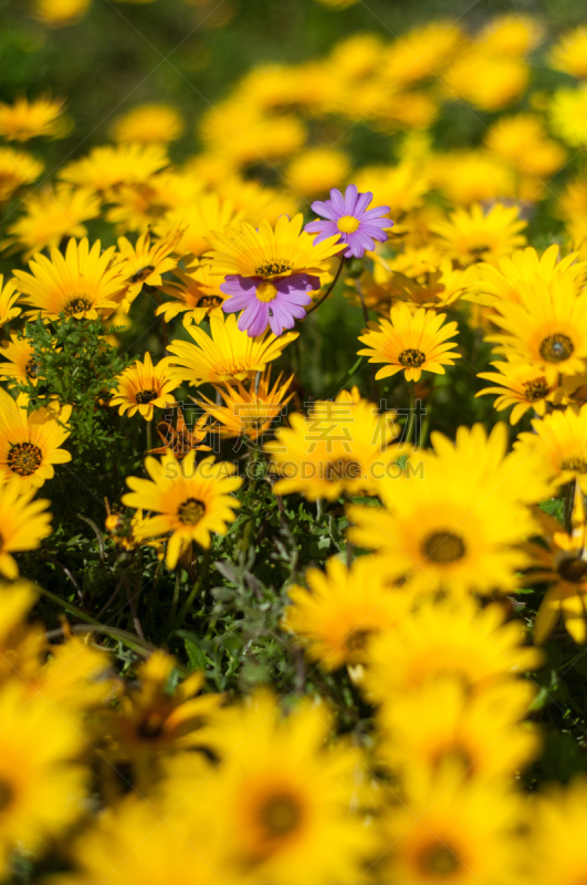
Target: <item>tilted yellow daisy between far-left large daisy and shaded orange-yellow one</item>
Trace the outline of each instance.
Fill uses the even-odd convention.
[[[167,237],[150,244],[148,231],[143,233],[135,246],[126,237],[118,240],[118,252],[114,258],[116,270],[125,278],[126,290],[123,305],[128,310],[144,285],[160,287],[161,274],[177,266],[171,252],[181,239],[181,230],[171,230]]]

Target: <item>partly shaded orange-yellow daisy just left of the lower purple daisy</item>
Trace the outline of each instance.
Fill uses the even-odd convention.
[[[166,323],[171,322],[178,313],[189,313],[184,317],[184,325],[191,322],[199,325],[205,316],[212,313],[222,314],[222,302],[228,298],[220,291],[221,278],[210,273],[207,266],[190,268],[189,272],[177,268],[174,271],[179,282],[169,282],[160,287],[161,292],[171,295],[174,301],[159,304],[156,316],[163,316]]]

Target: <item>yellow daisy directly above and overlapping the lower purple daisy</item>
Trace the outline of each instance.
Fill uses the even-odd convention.
[[[211,233],[208,241],[213,251],[208,257],[212,272],[266,280],[294,273],[325,273],[327,259],[340,252],[339,237],[328,237],[314,246],[312,235],[302,231],[303,225],[302,215],[292,220],[281,216],[274,230],[262,219],[259,229],[243,221],[223,233]]]

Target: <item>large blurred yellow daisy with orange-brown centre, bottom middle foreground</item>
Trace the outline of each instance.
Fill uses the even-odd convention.
[[[258,882],[289,885],[312,870],[317,885],[352,885],[374,836],[356,811],[360,754],[326,745],[331,727],[321,705],[306,700],[283,717],[269,691],[219,710],[206,746],[222,762],[187,791],[186,767],[189,778],[193,763],[180,757],[168,764],[166,820],[189,839],[193,811],[214,809],[212,832],[231,846],[228,882],[245,870]]]

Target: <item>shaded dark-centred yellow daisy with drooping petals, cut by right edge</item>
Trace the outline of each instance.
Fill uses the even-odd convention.
[[[587,639],[587,560],[585,542],[587,540],[585,504],[583,489],[575,480],[575,502],[572,512],[570,532],[563,530],[560,523],[542,510],[536,513],[541,523],[542,544],[528,544],[531,554],[525,584],[551,584],[541,602],[534,622],[534,641],[545,642],[556,623],[563,616],[565,627],[576,643]]]

